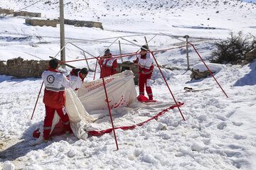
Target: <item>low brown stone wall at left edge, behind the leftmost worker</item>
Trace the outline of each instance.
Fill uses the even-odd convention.
[[[30,77],[41,78],[41,74],[48,67],[49,60],[23,60],[21,57],[0,62],[0,74],[13,76],[18,79]]]

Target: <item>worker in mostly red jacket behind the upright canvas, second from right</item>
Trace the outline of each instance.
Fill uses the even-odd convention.
[[[105,55],[100,58],[99,64],[101,66],[100,78],[117,73],[117,59],[112,57],[110,49],[105,51]]]

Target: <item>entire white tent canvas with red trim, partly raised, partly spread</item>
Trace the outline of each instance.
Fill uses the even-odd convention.
[[[175,103],[160,101],[150,104],[137,101],[132,71],[126,70],[105,77],[104,80],[114,128],[125,129],[124,127],[134,127],[145,123],[154,117],[157,118],[171,109],[170,106],[175,105]],[[109,130],[109,132],[112,130],[102,79],[83,83],[77,94],[70,88],[66,89],[65,95],[65,109],[70,118],[70,127],[76,137],[86,140],[88,134],[92,135],[96,132],[97,135],[97,132],[102,134],[105,133],[102,132],[104,130]],[[60,117],[55,113],[52,131],[59,120]],[[41,128],[41,140],[42,131]]]

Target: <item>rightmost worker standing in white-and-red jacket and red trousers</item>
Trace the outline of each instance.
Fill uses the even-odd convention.
[[[142,45],[141,52],[134,61],[134,64],[139,65],[139,96],[138,100],[144,96],[144,86],[146,85],[146,93],[149,96],[149,100],[153,100],[153,93],[151,89],[151,76],[154,69],[154,59],[151,57],[149,47],[147,45]],[[132,64],[129,69],[134,67]]]

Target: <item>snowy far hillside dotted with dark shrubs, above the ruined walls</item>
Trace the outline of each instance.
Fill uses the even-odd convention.
[[[23,1],[2,0],[1,8],[15,11],[41,12],[43,17],[58,18],[59,1]],[[34,4],[33,6],[29,6]],[[158,25],[165,27],[186,28],[204,26],[214,28],[243,28],[254,26],[256,5],[236,0],[196,0],[196,1],[155,1],[155,0],[84,0],[64,1],[65,18],[85,21],[100,21],[104,28],[119,30],[117,26],[130,25],[126,30],[138,31],[141,23],[147,27]],[[164,24],[163,24],[164,23]],[[125,26],[127,27],[127,26]],[[132,30],[131,30],[132,29]],[[169,30],[166,29],[166,30]],[[136,31],[137,30],[137,31]],[[148,32],[149,29],[139,28]],[[151,32],[154,32],[151,30]]]

